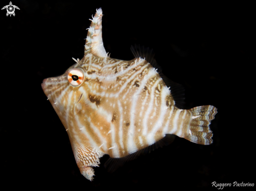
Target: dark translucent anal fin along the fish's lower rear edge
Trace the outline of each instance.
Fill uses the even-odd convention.
[[[150,145],[144,149],[141,149],[137,152],[134,152],[132,154],[129,154],[126,157],[123,158],[109,158],[104,166],[107,169],[108,172],[112,173],[115,172],[120,166],[123,166],[126,162],[137,159],[139,156],[148,154],[154,149],[157,149],[159,147],[167,146],[171,144],[175,139],[175,135],[166,134],[164,138],[160,139],[159,141],[155,142],[153,145]]]

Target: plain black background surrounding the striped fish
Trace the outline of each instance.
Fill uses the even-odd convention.
[[[12,1],[1,10],[0,181],[9,188],[194,188],[255,182],[255,11],[252,5],[169,2]],[[1,6],[8,5],[1,1]],[[93,182],[76,166],[68,135],[41,89],[82,58],[96,8],[110,57],[133,58],[130,45],[155,51],[163,73],[185,87],[186,107],[218,108],[214,143],[177,137]],[[254,186],[255,187],[255,186]],[[215,187],[212,187],[217,189]],[[225,188],[224,188],[225,189]],[[242,189],[240,187],[240,189]]]

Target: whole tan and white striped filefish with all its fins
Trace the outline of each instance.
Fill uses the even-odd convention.
[[[103,45],[102,17],[99,8],[90,19],[84,57],[73,58],[75,64],[63,75],[41,83],[69,135],[81,174],[92,181],[93,167],[104,154],[111,165],[161,147],[173,136],[212,144],[215,106],[182,109],[181,85],[162,74],[149,48],[131,46],[131,61],[111,58]]]

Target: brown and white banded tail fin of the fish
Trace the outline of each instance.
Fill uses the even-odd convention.
[[[189,134],[184,138],[201,145],[210,145],[213,142],[213,133],[210,130],[210,121],[214,119],[217,108],[212,105],[198,106],[190,109],[192,120]]]

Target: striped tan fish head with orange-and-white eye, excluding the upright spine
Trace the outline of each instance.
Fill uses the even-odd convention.
[[[84,66],[85,61],[84,57],[68,68],[63,75],[46,78],[41,83],[44,94],[60,117],[65,129],[74,126],[70,124],[72,120],[86,112],[86,105],[92,104],[88,95],[90,92],[87,91],[88,85],[84,82],[89,81],[95,71],[88,71]]]

